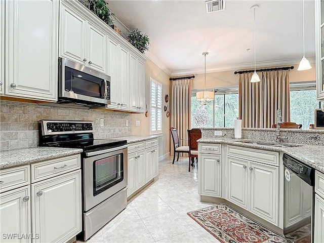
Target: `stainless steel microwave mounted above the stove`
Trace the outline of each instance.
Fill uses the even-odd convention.
[[[89,107],[110,104],[110,77],[85,65],[59,58],[58,103]]]

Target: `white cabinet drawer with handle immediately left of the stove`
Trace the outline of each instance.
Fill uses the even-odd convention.
[[[80,168],[80,154],[31,164],[31,183],[62,175]]]

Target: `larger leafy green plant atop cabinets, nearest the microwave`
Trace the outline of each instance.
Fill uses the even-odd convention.
[[[106,3],[104,0],[86,0],[84,1],[84,5],[94,12],[106,24],[113,27],[113,20],[116,19],[116,16],[108,8],[108,3]]]

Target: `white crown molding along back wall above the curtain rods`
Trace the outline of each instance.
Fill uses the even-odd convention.
[[[310,63],[315,63],[315,57],[307,58]],[[267,61],[267,62],[258,62],[256,63],[256,67],[271,67],[271,66],[282,66],[282,65],[298,65],[301,59],[285,59],[285,60],[276,60],[276,61]],[[231,71],[231,70],[240,70],[240,69],[253,69],[253,63],[244,63],[233,66],[222,66],[216,68],[208,68],[206,69],[206,73],[211,72],[223,72],[223,71]],[[171,76],[181,76],[181,75],[191,75],[191,74],[200,74],[205,73],[204,68],[199,69],[191,69],[184,71],[174,71],[171,72]]]

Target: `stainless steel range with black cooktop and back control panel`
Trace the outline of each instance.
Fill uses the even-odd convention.
[[[84,150],[78,238],[87,240],[127,206],[127,141],[94,139],[93,121],[40,120],[39,125],[39,146]]]

